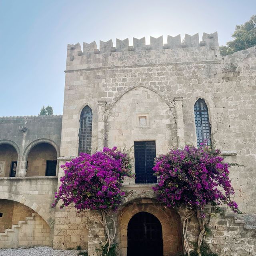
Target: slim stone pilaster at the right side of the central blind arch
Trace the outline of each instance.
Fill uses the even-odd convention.
[[[178,137],[178,146],[185,146],[185,136],[184,136],[184,123],[183,123],[183,110],[182,110],[182,97],[174,98],[175,102],[175,112],[176,112],[176,128]]]

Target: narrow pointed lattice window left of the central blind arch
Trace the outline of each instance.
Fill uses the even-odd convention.
[[[85,106],[80,116],[79,154],[92,151],[92,110]]]

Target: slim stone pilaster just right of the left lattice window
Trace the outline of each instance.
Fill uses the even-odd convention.
[[[105,100],[98,100],[98,150],[102,150],[105,143]]]

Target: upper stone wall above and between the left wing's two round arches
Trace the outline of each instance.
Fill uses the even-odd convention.
[[[26,176],[28,154],[37,144],[52,145],[59,156],[61,127],[62,116],[0,117],[0,144],[13,146],[18,154],[16,177]]]

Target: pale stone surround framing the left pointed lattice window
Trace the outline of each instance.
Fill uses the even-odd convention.
[[[92,110],[92,152],[98,147],[98,100],[97,99],[85,99],[76,105],[73,114],[73,120],[76,122],[76,145],[78,155],[79,145],[79,129],[80,129],[80,116],[84,107],[89,106]]]

